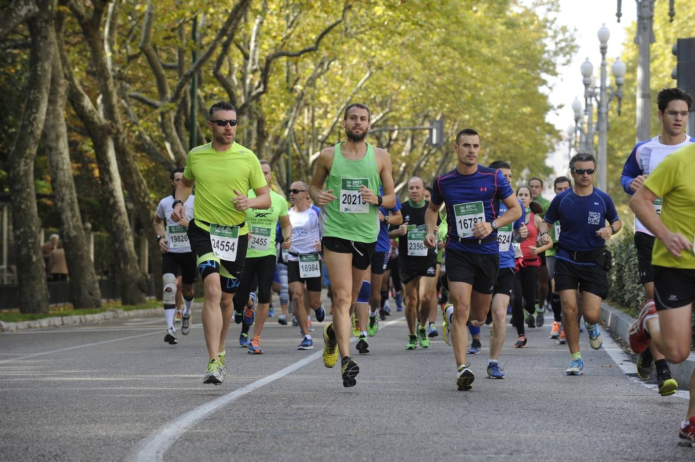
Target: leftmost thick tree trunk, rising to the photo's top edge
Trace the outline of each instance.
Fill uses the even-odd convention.
[[[45,43],[49,29],[53,28],[56,2],[43,0],[38,6],[40,12],[28,20],[31,52],[24,113],[17,131],[19,135],[8,157],[19,310],[22,313],[48,313],[49,305],[42,243],[37,233],[40,224],[34,189],[34,160],[46,119],[51,86],[51,55],[54,49],[45,46]]]

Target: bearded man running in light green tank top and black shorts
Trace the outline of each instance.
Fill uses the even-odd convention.
[[[321,243],[334,300],[333,322],[323,332],[323,363],[334,367],[340,352],[343,386],[357,384],[359,373],[350,357],[350,307],[357,302],[374,253],[379,207],[395,205],[391,157],[364,141],[370,115],[360,103],[345,108],[347,141],[320,152],[309,186],[311,199],[321,207]],[[377,196],[379,186],[384,196]]]

